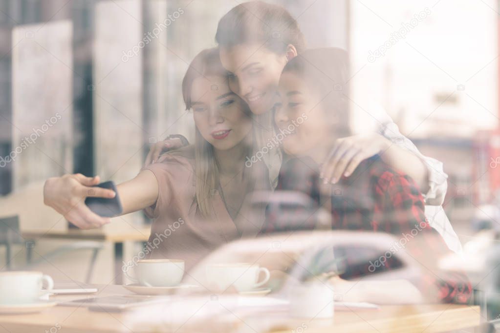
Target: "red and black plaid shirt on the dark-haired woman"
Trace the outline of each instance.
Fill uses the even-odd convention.
[[[281,167],[276,191],[294,190],[308,194],[319,206],[321,200],[317,166],[311,161],[304,163],[291,159]],[[471,295],[471,285],[462,273],[438,272],[427,268],[426,262],[434,262],[447,254],[447,248],[441,236],[427,223],[424,215],[423,197],[415,182],[407,175],[390,169],[378,156],[363,161],[354,173],[342,177],[337,184],[331,185],[331,228],[347,230],[371,230],[406,239],[405,250],[420,263],[422,279],[418,286],[424,295],[435,297],[445,303],[467,303]],[[293,214],[293,212],[289,212]],[[293,219],[290,219],[293,220]],[[279,223],[287,221],[281,215],[278,218],[267,216],[262,233],[282,232],[286,230],[314,229],[314,219],[307,219],[298,225]],[[401,242],[402,244],[402,242]],[[340,267],[343,279],[376,274],[402,267],[397,256],[386,256],[383,265],[372,265],[383,253],[373,252],[369,247],[335,248],[335,257],[343,258]],[[371,252],[371,253],[370,253]],[[362,261],[359,258],[373,258]],[[371,267],[370,267],[371,266]],[[433,295],[432,295],[433,294]]]

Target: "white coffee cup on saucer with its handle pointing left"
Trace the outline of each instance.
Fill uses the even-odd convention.
[[[127,278],[146,287],[172,287],[180,284],[184,275],[184,261],[179,259],[139,260],[136,277],[124,271]]]

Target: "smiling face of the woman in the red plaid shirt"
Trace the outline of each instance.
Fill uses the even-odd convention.
[[[329,144],[332,136],[332,122],[323,108],[321,100],[313,87],[299,79],[292,72],[284,72],[279,80],[279,89],[274,103],[274,121],[282,132],[294,128],[285,135],[282,145],[287,154],[311,156],[311,152]],[[298,118],[305,118],[298,124]]]

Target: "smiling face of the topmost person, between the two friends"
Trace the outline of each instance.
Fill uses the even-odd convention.
[[[220,61],[228,72],[229,88],[248,103],[251,112],[270,111],[286,54],[247,43],[220,47]]]

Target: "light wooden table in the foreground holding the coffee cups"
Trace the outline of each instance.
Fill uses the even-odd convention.
[[[131,295],[117,285],[97,286],[98,296]],[[54,296],[55,300],[81,299],[85,296]],[[210,295],[206,295],[207,302]],[[224,311],[225,312],[225,311]],[[146,316],[148,316],[146,312]],[[479,324],[480,315],[477,306],[458,305],[419,305],[419,306],[382,306],[380,310],[337,311],[333,320],[293,320],[286,315],[274,315],[265,312],[254,318],[239,314],[234,309],[227,309],[225,320],[210,318],[196,323],[196,316],[186,322],[169,326],[167,313],[163,313],[162,326],[154,323],[158,316],[150,312],[150,320],[135,320],[134,313],[91,312],[84,307],[56,306],[39,314],[0,315],[0,333],[6,332],[60,332],[60,333],[111,333],[111,332],[275,332],[289,333],[384,333],[384,332],[443,332],[459,330]],[[144,315],[144,314],[142,314]],[[272,318],[283,317],[279,323],[260,331],[255,325],[265,323]],[[137,317],[135,317],[137,319]],[[227,320],[229,319],[229,320]],[[306,326],[306,329],[298,329]],[[50,331],[52,328],[52,331]]]

